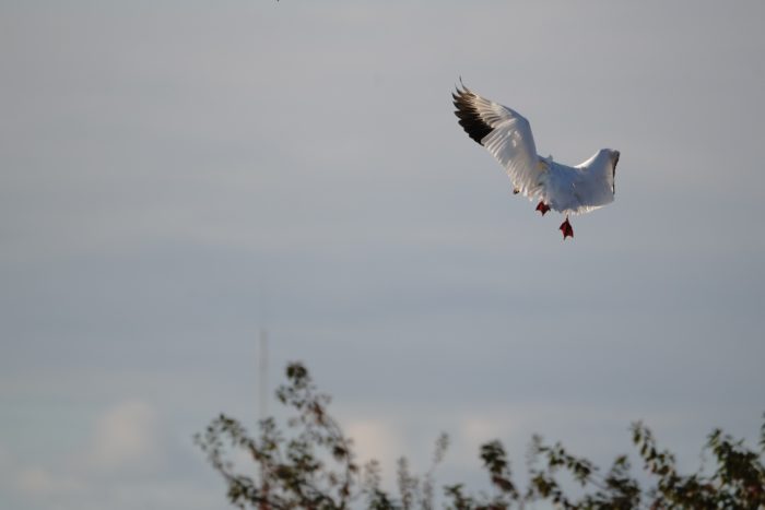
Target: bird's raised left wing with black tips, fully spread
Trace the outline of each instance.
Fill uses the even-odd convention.
[[[455,115],[468,135],[486,147],[505,167],[516,192],[530,199],[542,193],[548,166],[537,155],[531,124],[517,111],[483,98],[462,85],[451,94]]]

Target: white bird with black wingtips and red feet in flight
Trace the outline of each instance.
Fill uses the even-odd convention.
[[[461,84],[461,80],[460,80]],[[537,211],[566,215],[560,230],[574,237],[569,214],[581,214],[613,202],[619,151],[601,149],[577,166],[561,165],[537,154],[531,126],[517,111],[479,96],[462,84],[451,94],[468,135],[486,147],[505,167],[513,192],[539,200]]]

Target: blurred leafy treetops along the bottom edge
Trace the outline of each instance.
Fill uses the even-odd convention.
[[[286,383],[276,399],[295,414],[280,428],[273,418],[259,423],[251,437],[234,418],[221,414],[204,432],[195,436],[213,469],[226,482],[228,500],[242,508],[260,510],[432,510],[436,506],[434,472],[448,449],[442,434],[429,470],[422,476],[398,462],[397,490],[381,488],[379,463],[360,465],[353,441],[329,415],[329,395],[318,391],[302,364],[286,367]],[[473,494],[464,484],[443,487],[442,506],[448,510],[522,509],[548,501],[568,510],[605,509],[765,509],[765,423],[757,451],[722,430],[714,430],[704,449],[714,459],[714,472],[678,471],[674,455],[658,446],[642,423],[632,426],[632,439],[649,482],[631,474],[626,455],[619,455],[608,471],[575,456],[561,443],[546,444],[534,436],[525,488],[514,482],[510,462],[498,440],[483,444],[479,456],[489,475],[492,493]],[[234,451],[248,454],[256,470],[244,474],[231,460]],[[251,473],[257,473],[252,475]],[[576,495],[561,482],[567,474],[580,487]],[[645,479],[644,476],[642,479]],[[570,485],[570,484],[569,484]]]

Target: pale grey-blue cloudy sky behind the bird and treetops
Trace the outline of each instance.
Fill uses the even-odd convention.
[[[412,3],[0,3],[3,508],[225,507],[191,436],[254,425],[261,328],[388,476],[442,430],[442,483],[493,438],[756,437],[763,2]],[[615,202],[564,242],[460,75],[543,155],[621,151]]]

